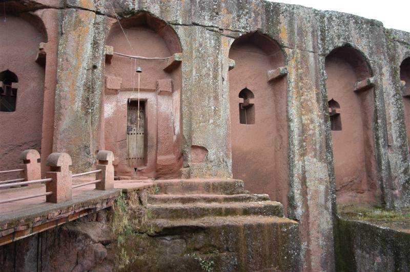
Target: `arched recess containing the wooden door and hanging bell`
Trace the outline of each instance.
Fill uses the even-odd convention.
[[[122,19],[120,24],[128,41],[116,22],[107,37],[107,52],[112,49],[125,55],[171,58],[106,55],[105,146],[116,156],[116,175],[179,177],[182,156],[178,36],[165,21],[146,12]],[[137,67],[142,70],[139,95]]]

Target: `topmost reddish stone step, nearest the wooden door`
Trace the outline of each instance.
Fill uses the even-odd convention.
[[[239,179],[166,179],[155,180],[161,194],[245,194]]]

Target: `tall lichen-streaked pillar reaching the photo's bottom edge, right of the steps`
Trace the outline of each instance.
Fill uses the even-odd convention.
[[[286,55],[290,59],[288,215],[300,223],[303,270],[334,271],[332,187],[319,56],[296,49],[286,49]]]

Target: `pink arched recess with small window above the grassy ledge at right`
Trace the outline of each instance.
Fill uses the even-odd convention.
[[[337,203],[374,201],[379,186],[372,71],[362,54],[347,45],[326,56],[325,70]]]

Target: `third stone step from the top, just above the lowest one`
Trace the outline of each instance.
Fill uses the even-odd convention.
[[[180,203],[147,205],[150,218],[187,219],[206,216],[262,215],[283,217],[283,206],[276,201]]]

